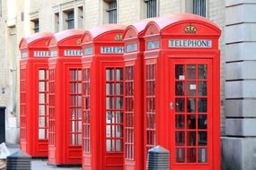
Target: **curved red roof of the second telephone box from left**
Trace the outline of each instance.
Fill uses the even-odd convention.
[[[78,47],[81,45],[83,35],[84,30],[79,29],[58,32],[51,38],[49,47]]]

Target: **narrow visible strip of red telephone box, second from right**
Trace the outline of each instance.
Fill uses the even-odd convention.
[[[125,162],[124,169],[144,169],[144,102],[143,53],[146,24],[153,19],[134,23],[124,32],[125,43]]]

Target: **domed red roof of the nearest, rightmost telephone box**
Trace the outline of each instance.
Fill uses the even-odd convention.
[[[221,30],[212,21],[196,14],[180,13],[170,16],[159,17],[146,25],[146,37],[151,35],[182,35],[185,28],[195,24],[198,35],[220,36]],[[181,27],[184,27],[181,30]],[[188,30],[190,31],[190,30]],[[189,32],[193,34],[194,32]]]

